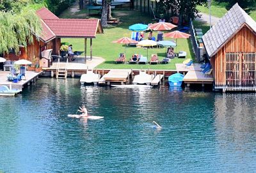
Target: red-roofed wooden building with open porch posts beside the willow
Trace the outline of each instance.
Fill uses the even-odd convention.
[[[60,19],[47,8],[36,11],[42,24],[42,33],[39,39],[34,37],[33,43],[27,47],[20,46],[19,54],[10,52],[4,54],[12,61],[40,57],[42,50],[52,49],[52,55],[60,54],[61,38],[84,38],[84,56],[86,57],[87,39],[90,39],[90,58],[92,59],[92,39],[97,33],[103,33],[99,19]],[[86,58],[84,58],[86,62]]]

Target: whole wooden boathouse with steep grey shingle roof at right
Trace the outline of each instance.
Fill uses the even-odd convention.
[[[256,22],[235,4],[203,36],[214,88],[256,91]]]

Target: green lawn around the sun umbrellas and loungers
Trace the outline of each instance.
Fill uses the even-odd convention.
[[[83,13],[84,12],[84,13]],[[68,11],[65,11],[61,17],[72,17],[72,18],[88,18],[86,16],[86,10],[79,11],[73,13],[72,15],[68,14]],[[128,27],[132,24],[144,22],[148,24],[152,22],[152,18],[147,15],[140,13],[138,11],[132,10],[115,10],[113,11],[113,17],[120,19],[120,24],[115,26],[109,26],[108,28],[104,28],[104,34],[97,34],[97,38],[93,39],[93,56],[103,57],[106,61],[97,68],[134,68],[134,69],[159,69],[159,70],[175,70],[175,63],[182,63],[184,59],[172,59],[169,64],[115,64],[114,61],[118,57],[118,55],[124,52],[124,45],[120,45],[117,43],[111,43],[113,40],[117,40],[118,38],[122,38],[124,36],[131,37],[131,31],[129,31]],[[96,17],[96,15],[94,15]],[[157,35],[157,32],[153,33],[154,36]],[[147,36],[147,33],[145,34]],[[170,39],[166,39],[170,40]],[[61,42],[69,42],[73,45],[73,50],[84,51],[84,40],[83,39],[71,39],[71,38],[63,38]],[[87,45],[90,45],[89,41]],[[87,52],[90,52],[90,46],[88,47]],[[175,48],[177,52],[179,50],[184,50],[187,52],[187,59],[192,58],[195,59],[195,55],[192,50],[192,46],[189,40],[186,39],[178,39],[177,40],[177,48]],[[159,60],[161,61],[163,57],[165,57],[166,49],[148,49],[148,60],[151,57],[151,54],[157,54]],[[126,57],[129,58],[132,54],[138,53],[143,54],[143,56],[147,56],[147,49],[141,49],[136,47],[127,47],[126,49]]]

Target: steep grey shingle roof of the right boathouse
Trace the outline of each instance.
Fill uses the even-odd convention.
[[[203,41],[208,56],[214,56],[244,24],[256,32],[256,22],[236,3],[204,34]]]

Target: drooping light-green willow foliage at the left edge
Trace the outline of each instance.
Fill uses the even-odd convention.
[[[0,52],[26,47],[38,38],[42,31],[40,19],[35,10],[22,10],[19,13],[0,11]]]

